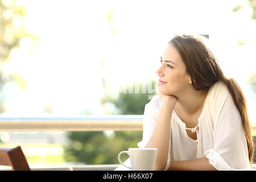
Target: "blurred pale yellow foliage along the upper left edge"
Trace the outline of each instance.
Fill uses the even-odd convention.
[[[6,82],[13,81],[20,86],[26,85],[24,78],[14,72],[4,72],[3,65],[10,61],[11,51],[20,47],[23,38],[38,43],[36,36],[29,34],[24,27],[26,6],[17,5],[14,0],[0,1],[0,113],[5,111],[2,88]]]

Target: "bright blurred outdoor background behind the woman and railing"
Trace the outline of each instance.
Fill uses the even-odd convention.
[[[256,1],[0,1],[0,117],[143,114],[167,43],[209,36],[256,124]],[[126,86],[150,85],[123,93]],[[253,135],[256,135],[253,133]],[[118,164],[142,131],[4,132],[31,165]]]

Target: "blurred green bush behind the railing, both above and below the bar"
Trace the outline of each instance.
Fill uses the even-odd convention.
[[[154,88],[155,85],[152,86]],[[120,93],[117,99],[108,98],[108,102],[117,106],[121,110],[120,114],[143,114],[144,106],[150,101],[148,96],[153,93],[141,93],[141,84],[139,88],[139,93]],[[68,138],[69,143],[64,148],[64,158],[67,162],[118,164],[119,152],[138,147],[137,143],[142,140],[142,131],[113,131],[109,135],[104,131],[75,131],[69,132]],[[122,160],[127,158],[125,155],[121,157]]]

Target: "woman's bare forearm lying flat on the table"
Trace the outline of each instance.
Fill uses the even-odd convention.
[[[216,169],[209,164],[207,158],[171,161],[168,170],[216,171]]]

